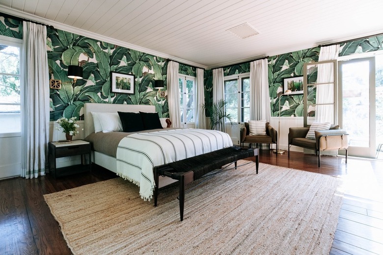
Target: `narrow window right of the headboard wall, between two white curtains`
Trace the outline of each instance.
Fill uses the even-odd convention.
[[[181,122],[193,123],[195,120],[195,77],[178,75],[181,101]]]

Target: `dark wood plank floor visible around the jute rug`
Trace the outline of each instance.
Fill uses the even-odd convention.
[[[292,152],[261,151],[260,162],[337,176],[345,195],[331,255],[383,255],[383,161]],[[52,178],[13,178],[0,181],[0,254],[71,254],[43,195],[116,176],[100,167],[93,172]]]

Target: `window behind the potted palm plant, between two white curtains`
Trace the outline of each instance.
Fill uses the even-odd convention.
[[[249,74],[225,77],[225,101],[226,113],[233,122],[247,122],[250,119]]]

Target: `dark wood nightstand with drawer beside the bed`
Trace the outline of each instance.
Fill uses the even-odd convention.
[[[85,155],[88,154],[88,162],[85,164]],[[50,142],[48,144],[49,171],[57,176],[80,173],[85,170],[92,171],[90,143],[83,140],[73,140],[70,143]],[[81,155],[81,164],[56,168],[56,158]]]

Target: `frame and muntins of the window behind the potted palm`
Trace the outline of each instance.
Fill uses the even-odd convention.
[[[225,83],[226,81],[228,80],[237,80],[237,94],[238,94],[238,98],[237,98],[237,123],[238,124],[244,124],[246,122],[245,120],[245,117],[244,117],[244,109],[248,108],[250,109],[250,102],[249,102],[249,105],[248,106],[244,106],[243,105],[243,93],[249,93],[250,94],[250,90],[249,91],[242,91],[243,90],[243,80],[244,79],[250,79],[250,73],[244,73],[244,74],[240,74],[240,75],[231,75],[231,76],[225,76],[223,78],[223,86],[224,86],[224,98],[226,100],[226,89],[225,89]],[[250,87],[249,87],[250,88]],[[233,107],[226,107],[225,105],[225,112],[226,112],[226,108],[233,108]],[[230,122],[227,122],[225,121],[226,124],[229,124]]]

